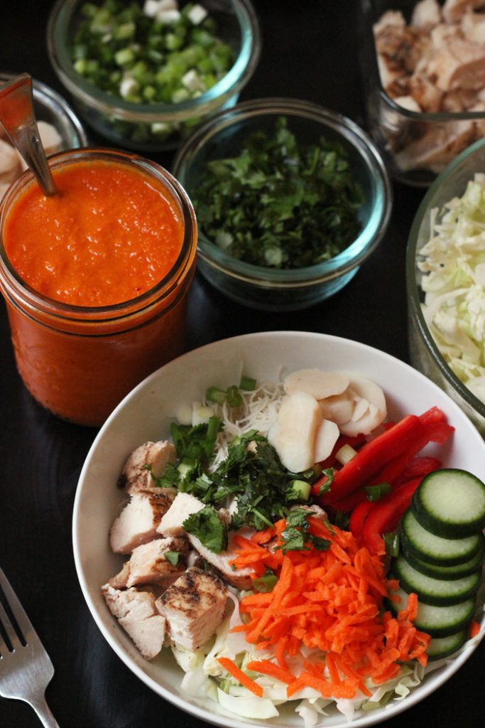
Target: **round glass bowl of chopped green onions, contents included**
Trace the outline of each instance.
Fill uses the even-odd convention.
[[[97,133],[162,151],[236,103],[260,57],[260,30],[250,0],[57,0],[47,47]]]

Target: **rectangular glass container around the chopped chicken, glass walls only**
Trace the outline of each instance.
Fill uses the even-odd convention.
[[[402,12],[409,23],[415,5],[416,0],[361,0],[361,68],[367,125],[390,173],[404,183],[429,186],[460,151],[484,135],[485,111],[414,111],[385,92],[373,25],[388,10]]]

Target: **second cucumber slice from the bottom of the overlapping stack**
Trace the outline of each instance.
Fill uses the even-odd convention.
[[[391,611],[397,614],[406,606],[407,594],[402,589],[398,589],[393,594],[401,597],[399,604],[390,602]],[[451,606],[436,606],[421,602],[417,605],[417,617],[413,624],[415,628],[428,633],[431,637],[449,637],[468,626],[474,611],[475,599],[473,598]]]

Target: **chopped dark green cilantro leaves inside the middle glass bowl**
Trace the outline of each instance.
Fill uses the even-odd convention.
[[[356,239],[364,195],[340,143],[302,145],[281,116],[273,135],[255,132],[241,146],[238,157],[207,163],[194,194],[199,226],[216,245],[290,269],[328,261]]]

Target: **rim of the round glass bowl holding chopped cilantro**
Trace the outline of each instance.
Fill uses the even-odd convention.
[[[374,197],[374,205],[364,228],[356,240],[353,240],[337,256],[329,261],[302,268],[271,269],[244,263],[221,250],[205,237],[200,229],[198,253],[199,257],[212,268],[252,285],[264,288],[299,288],[318,285],[334,280],[363,263],[382,239],[390,219],[393,191],[388,170],[377,146],[356,122],[336,111],[302,99],[275,97],[244,101],[232,108],[220,111],[201,124],[177,151],[172,164],[172,172],[183,184],[185,175],[190,170],[192,161],[190,157],[200,151],[207,141],[237,122],[276,114],[300,116],[314,122],[323,122],[322,134],[324,134],[325,127],[332,127],[361,154],[372,184]]]

